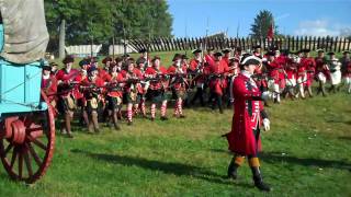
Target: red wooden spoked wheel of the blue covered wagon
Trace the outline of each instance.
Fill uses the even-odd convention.
[[[43,91],[41,95],[48,105],[47,109],[7,118],[3,128],[11,127],[11,137],[8,132],[8,138],[0,140],[0,157],[5,171],[11,178],[29,184],[45,174],[54,155],[53,107]]]

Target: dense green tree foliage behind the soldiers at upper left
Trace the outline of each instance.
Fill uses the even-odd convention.
[[[165,0],[45,0],[50,49],[57,49],[66,20],[66,45],[107,44],[112,37],[171,36],[172,16]]]

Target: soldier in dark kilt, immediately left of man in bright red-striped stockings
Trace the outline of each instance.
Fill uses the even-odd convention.
[[[167,96],[166,89],[168,88],[168,76],[167,69],[161,66],[161,59],[155,56],[152,67],[148,67],[145,71],[145,78],[149,80],[148,91],[151,97],[151,120],[155,120],[156,116],[156,104],[161,104],[161,120],[167,120]]]

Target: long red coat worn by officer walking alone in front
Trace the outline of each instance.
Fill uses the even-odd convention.
[[[254,100],[259,100],[261,92],[253,81],[240,73],[233,81],[233,95],[235,114],[231,131],[227,135],[229,150],[241,155],[256,155],[261,150],[261,142],[259,137],[257,142],[253,129],[262,123],[263,105]]]

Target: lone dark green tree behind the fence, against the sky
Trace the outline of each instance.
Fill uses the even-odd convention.
[[[254,18],[250,35],[254,38],[267,37],[271,25],[274,27],[274,35],[278,35],[278,25],[274,23],[273,14],[268,10],[261,10]]]

